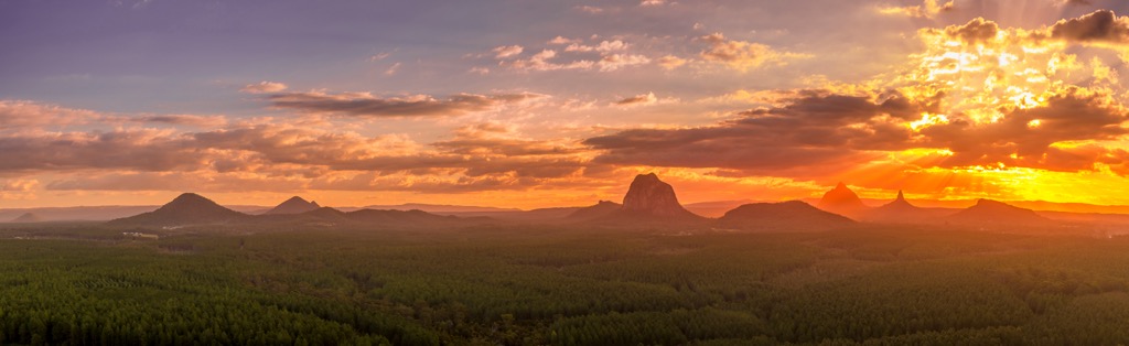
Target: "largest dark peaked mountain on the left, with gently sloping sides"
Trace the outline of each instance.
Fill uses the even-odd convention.
[[[110,225],[177,227],[246,221],[251,215],[226,209],[203,196],[186,193],[156,211],[110,221]]]

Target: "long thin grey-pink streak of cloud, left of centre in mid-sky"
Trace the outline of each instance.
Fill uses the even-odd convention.
[[[377,97],[367,92],[282,92],[266,96],[275,108],[301,113],[357,117],[458,116],[545,97],[537,94],[457,94],[446,99],[431,96]]]

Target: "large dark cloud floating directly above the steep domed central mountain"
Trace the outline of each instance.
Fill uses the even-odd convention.
[[[873,159],[861,150],[903,147],[911,133],[900,123],[918,113],[899,95],[806,91],[787,106],[714,126],[628,130],[584,143],[604,150],[602,163],[770,171]]]

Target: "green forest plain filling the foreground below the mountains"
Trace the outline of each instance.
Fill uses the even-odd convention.
[[[1129,239],[0,227],[0,344],[1114,345]]]

